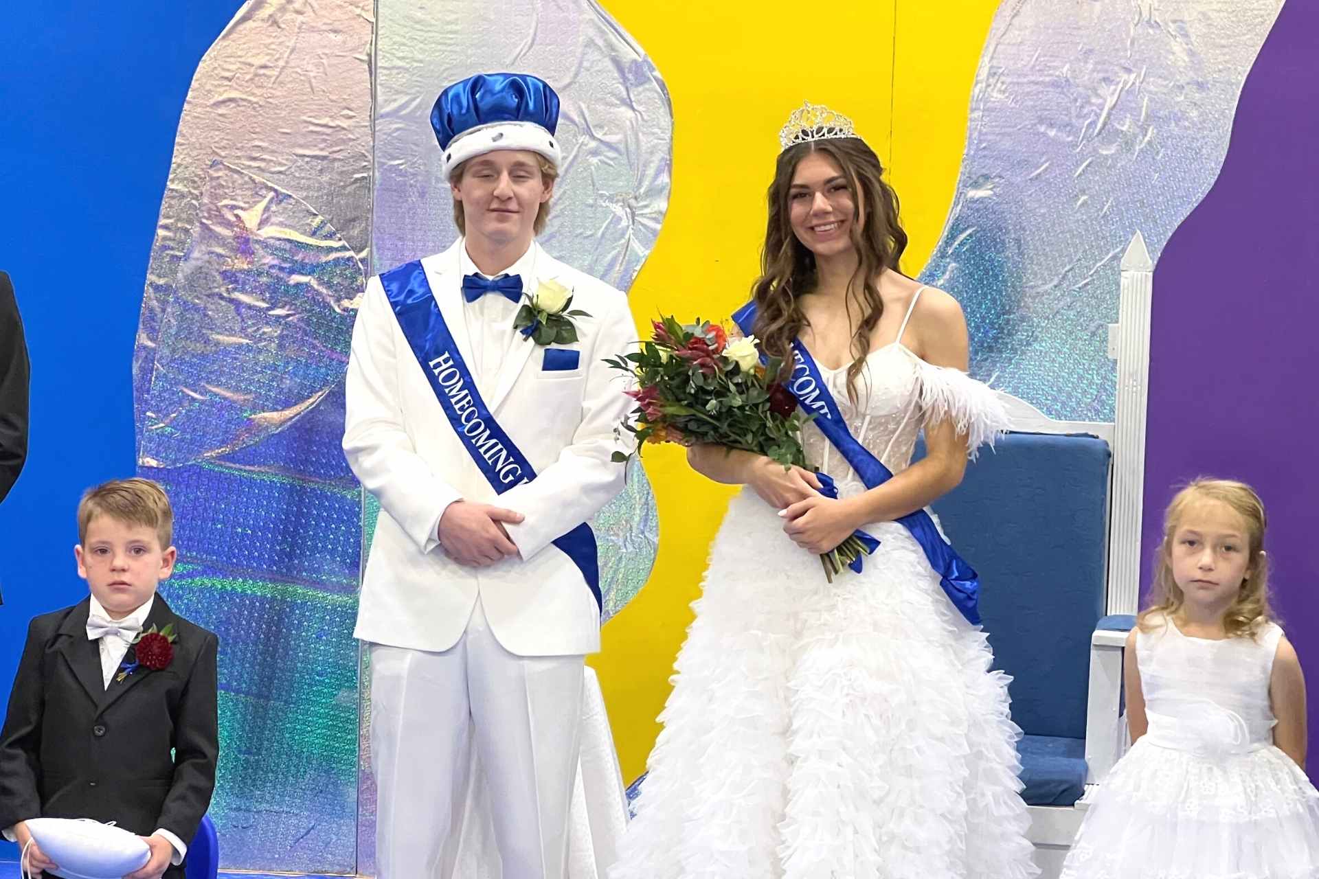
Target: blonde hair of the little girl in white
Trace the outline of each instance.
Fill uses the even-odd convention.
[[[1264,502],[1245,482],[1213,480],[1203,476],[1191,480],[1167,505],[1167,511],[1163,514],[1163,540],[1159,544],[1158,560],[1154,565],[1150,604],[1137,622],[1142,630],[1149,631],[1158,625],[1155,617],[1171,618],[1186,602],[1186,594],[1173,577],[1173,540],[1186,511],[1192,503],[1203,501],[1225,503],[1245,522],[1246,559],[1249,561],[1241,588],[1237,590],[1236,598],[1232,600],[1232,605],[1223,614],[1223,630],[1229,638],[1253,637],[1264,623],[1277,619],[1269,605],[1269,559],[1264,553],[1264,531],[1268,527],[1268,517],[1264,513]]]

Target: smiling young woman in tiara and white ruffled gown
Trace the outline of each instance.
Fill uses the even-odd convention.
[[[956,300],[898,273],[897,198],[851,123],[807,105],[780,140],[753,332],[773,354],[805,345],[851,434],[894,476],[867,489],[815,424],[807,457],[838,499],[809,470],[690,449],[695,469],[747,488],[715,538],[609,875],[1037,875],[1008,679],[989,671],[973,608],[954,604],[897,522],[958,485],[1005,414],[964,372]],[[922,428],[929,451],[910,464]],[[878,548],[826,581],[816,553],[856,528]]]

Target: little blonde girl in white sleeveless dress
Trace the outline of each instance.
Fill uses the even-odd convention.
[[[1126,639],[1132,749],[1063,879],[1319,878],[1306,685],[1269,609],[1265,514],[1241,482],[1173,498],[1151,606]]]

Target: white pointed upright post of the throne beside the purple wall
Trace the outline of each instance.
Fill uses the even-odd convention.
[[[1141,589],[1141,511],[1145,501],[1145,414],[1150,376],[1154,262],[1137,231],[1122,254],[1116,327],[1117,411],[1113,419],[1113,503],[1108,540],[1108,613],[1132,614]],[[1111,333],[1112,337],[1112,333]]]

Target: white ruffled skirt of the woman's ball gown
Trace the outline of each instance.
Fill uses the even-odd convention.
[[[896,523],[828,584],[744,489],[611,879],[1034,876],[1008,681]]]

